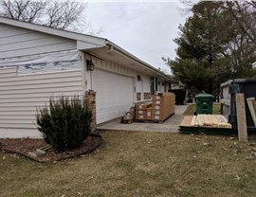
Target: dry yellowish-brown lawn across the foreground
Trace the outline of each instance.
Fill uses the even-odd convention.
[[[0,152],[1,196],[255,196],[255,137],[250,143],[166,133],[102,137],[97,152],[55,164]]]

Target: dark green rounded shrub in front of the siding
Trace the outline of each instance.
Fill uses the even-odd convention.
[[[49,109],[37,109],[38,130],[57,151],[79,147],[91,132],[92,114],[85,99],[49,99]]]

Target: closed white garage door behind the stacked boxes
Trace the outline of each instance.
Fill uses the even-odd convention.
[[[95,70],[97,124],[124,116],[133,104],[133,79],[106,71]]]

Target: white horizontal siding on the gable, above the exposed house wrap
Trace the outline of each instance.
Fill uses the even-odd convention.
[[[0,58],[76,49],[76,41],[0,24]]]

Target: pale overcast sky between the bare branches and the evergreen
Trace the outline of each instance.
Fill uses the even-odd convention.
[[[161,57],[175,58],[173,40],[179,24],[184,24],[179,1],[89,1],[87,19],[98,35],[106,38],[146,63],[170,68]]]

